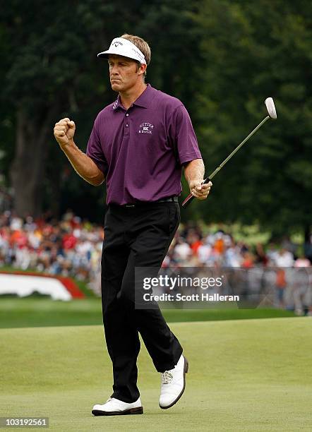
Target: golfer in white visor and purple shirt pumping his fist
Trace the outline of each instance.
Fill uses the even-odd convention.
[[[177,227],[181,172],[196,198],[203,160],[184,105],[145,83],[150,47],[138,36],[116,37],[97,54],[109,64],[115,102],[97,115],[84,153],[73,141],[75,123],[56,123],[54,136],[76,172],[99,186],[106,181],[108,210],[102,250],[102,311],[114,385],[94,415],[143,414],[137,387],[139,332],[161,373],[160,407],[172,407],[184,392],[188,361],[160,308],[135,307],[136,268],[160,269]]]

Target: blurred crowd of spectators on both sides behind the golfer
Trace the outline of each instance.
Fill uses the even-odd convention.
[[[0,267],[73,276],[88,282],[99,293],[103,239],[101,226],[81,220],[71,210],[61,220],[44,216],[22,220],[7,211],[0,215]],[[278,244],[249,246],[222,229],[212,232],[207,226],[202,229],[199,225],[181,224],[162,266],[310,269],[311,261],[298,252],[298,246],[287,236]],[[277,272],[275,285],[283,307],[287,281],[282,271]]]

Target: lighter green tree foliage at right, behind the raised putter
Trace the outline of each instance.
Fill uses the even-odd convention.
[[[304,11],[304,13],[302,12]],[[263,119],[265,124],[215,178],[208,220],[260,222],[275,232],[311,224],[311,4],[204,0],[203,85],[198,134],[212,169]],[[208,169],[208,172],[210,168]]]

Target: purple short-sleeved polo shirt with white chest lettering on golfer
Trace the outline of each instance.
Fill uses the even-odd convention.
[[[87,155],[104,173],[107,204],[120,205],[178,196],[181,165],[201,158],[184,104],[150,84],[128,110],[120,97],[102,109]]]

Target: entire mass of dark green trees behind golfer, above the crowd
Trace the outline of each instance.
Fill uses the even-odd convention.
[[[52,130],[61,117],[73,117],[76,141],[85,149],[97,112],[116,97],[96,53],[128,32],[150,43],[148,82],[179,97],[190,112],[206,174],[263,119],[265,97],[275,98],[277,121],[251,138],[215,177],[208,200],[193,203],[183,219],[307,229],[311,7],[307,0],[11,1],[0,20],[0,150],[6,150],[0,167],[9,183],[15,148],[11,184],[18,214],[36,215],[42,205],[58,214],[71,205],[83,215],[92,208],[92,217],[102,220],[104,189],[68,171]],[[85,202],[97,204],[84,210]]]

